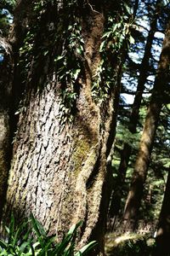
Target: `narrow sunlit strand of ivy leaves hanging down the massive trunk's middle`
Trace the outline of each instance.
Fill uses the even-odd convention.
[[[55,70],[61,86],[61,96],[63,104],[62,113],[65,113],[62,122],[72,121],[74,106],[77,101],[77,91],[79,90],[78,78],[82,72],[82,57],[84,53],[84,41],[82,38],[82,26],[77,17],[74,23],[68,25],[63,32],[65,42],[61,55],[54,58]]]

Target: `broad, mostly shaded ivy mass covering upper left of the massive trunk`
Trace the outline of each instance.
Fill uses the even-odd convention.
[[[20,48],[19,65],[22,83],[29,84],[31,78],[38,90],[42,90],[55,74],[62,99],[61,123],[65,123],[73,118],[80,90],[78,80],[83,69],[84,41],[77,1],[63,3],[58,11],[59,8],[56,1],[34,3],[34,19]]]

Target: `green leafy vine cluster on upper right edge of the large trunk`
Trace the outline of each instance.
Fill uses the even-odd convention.
[[[119,11],[112,11],[105,22],[105,31],[100,44],[101,62],[94,75],[93,96],[104,102],[116,84],[118,67],[129,44],[133,44],[130,26],[133,22],[131,9],[120,3]],[[121,65],[120,65],[121,66]]]

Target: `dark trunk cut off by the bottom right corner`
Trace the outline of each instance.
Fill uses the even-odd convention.
[[[156,234],[156,250],[154,256],[167,256],[170,253],[170,173],[167,175],[166,190],[161,206],[160,218],[158,223],[158,230]]]

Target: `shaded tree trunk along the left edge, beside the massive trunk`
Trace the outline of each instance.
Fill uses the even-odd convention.
[[[22,91],[17,75],[17,59],[20,46],[26,36],[28,20],[30,21],[28,19],[28,16],[31,16],[29,14],[30,5],[32,6],[32,3],[28,1],[24,4],[22,1],[18,1],[18,6],[14,11],[14,26],[11,26],[8,38],[0,37],[0,46],[4,52],[3,61],[0,63],[0,219],[7,191],[12,143],[16,128],[14,113],[20,102],[20,92]]]

